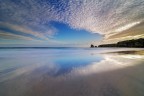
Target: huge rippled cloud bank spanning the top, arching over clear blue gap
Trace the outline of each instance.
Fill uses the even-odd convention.
[[[143,22],[143,5],[144,0],[0,0],[0,22],[42,40],[56,34],[51,21],[99,33],[107,40]]]

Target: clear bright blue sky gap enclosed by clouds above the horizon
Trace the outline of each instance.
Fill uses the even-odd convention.
[[[72,29],[63,23],[53,22],[52,25],[57,29],[57,34],[54,36],[54,39],[57,41],[80,44],[101,40],[102,38],[100,34],[90,33],[86,30]]]

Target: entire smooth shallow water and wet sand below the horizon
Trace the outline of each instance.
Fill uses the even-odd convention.
[[[0,49],[0,96],[144,96],[140,50]]]

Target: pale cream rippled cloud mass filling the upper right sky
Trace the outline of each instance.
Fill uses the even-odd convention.
[[[135,18],[140,16],[144,9],[143,5],[139,4],[140,1],[134,0],[85,0],[82,2],[80,5],[70,3],[72,7],[68,12],[72,14],[66,22],[74,28],[104,35],[110,34],[114,29],[127,23],[135,22]],[[136,6],[138,4],[139,6]],[[139,18],[140,21],[142,18]]]

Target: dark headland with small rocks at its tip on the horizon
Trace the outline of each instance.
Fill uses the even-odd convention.
[[[128,47],[128,48],[144,48],[144,38],[132,39],[120,41],[114,44],[102,44],[98,46],[91,45],[91,48],[94,47]]]

